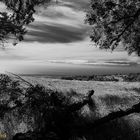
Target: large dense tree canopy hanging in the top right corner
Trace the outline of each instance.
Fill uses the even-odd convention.
[[[93,29],[91,40],[101,49],[121,44],[128,54],[140,56],[139,0],[91,0],[86,22]]]

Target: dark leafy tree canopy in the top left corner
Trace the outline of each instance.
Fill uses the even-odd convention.
[[[22,41],[25,26],[34,21],[35,6],[50,0],[0,0],[7,6],[7,12],[0,12],[0,41],[12,38]]]

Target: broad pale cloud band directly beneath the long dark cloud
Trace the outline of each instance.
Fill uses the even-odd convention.
[[[99,50],[90,46],[89,38],[71,43],[40,43],[22,42],[17,46],[10,47],[8,55],[24,56],[28,60],[45,62],[47,60],[87,60],[90,63],[97,61],[127,61],[125,52],[113,52]]]

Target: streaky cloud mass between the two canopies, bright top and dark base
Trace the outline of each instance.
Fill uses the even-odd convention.
[[[47,8],[39,7],[25,41],[70,43],[84,40],[89,31],[89,26],[84,24],[85,13],[66,6],[66,3],[74,4],[65,1]]]

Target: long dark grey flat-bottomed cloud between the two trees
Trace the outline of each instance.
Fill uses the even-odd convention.
[[[61,24],[44,24],[38,22],[30,26],[32,30],[28,32],[25,41],[36,41],[41,43],[69,43],[84,40],[87,37],[87,28],[83,26],[74,27]]]

